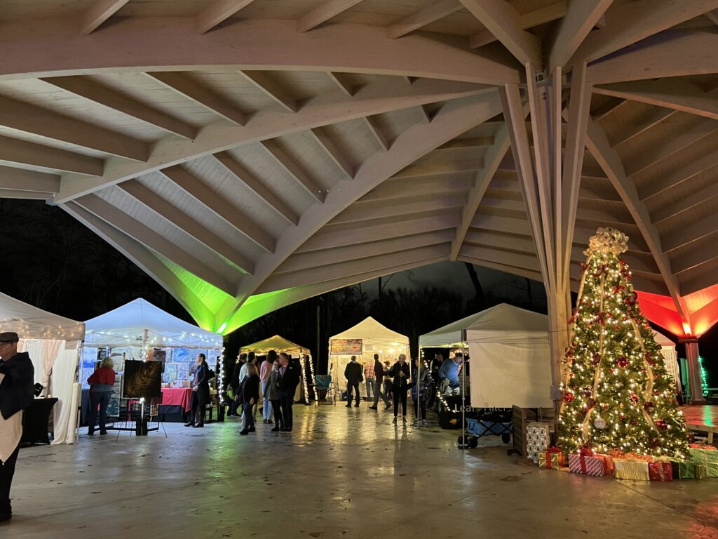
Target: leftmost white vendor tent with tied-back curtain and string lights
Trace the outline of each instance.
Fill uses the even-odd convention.
[[[3,331],[18,334],[18,350],[29,354],[35,382],[42,384],[42,395],[47,397],[35,399],[26,411],[24,441],[47,443],[47,419],[52,410],[52,443],[73,443],[79,399],[75,372],[85,324],[0,294],[0,332]]]

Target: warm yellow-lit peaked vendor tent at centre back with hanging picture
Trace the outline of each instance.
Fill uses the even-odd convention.
[[[356,326],[329,339],[329,374],[337,382],[340,392],[347,389],[344,369],[351,356],[357,356],[362,365],[373,364],[374,354],[379,354],[379,361],[394,364],[399,354],[406,354],[409,361],[409,337],[391,331],[368,316]],[[366,397],[366,384],[359,384],[362,397]]]

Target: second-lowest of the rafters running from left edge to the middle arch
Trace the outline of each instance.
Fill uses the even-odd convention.
[[[0,136],[0,161],[60,172],[101,176],[103,161],[65,149]]]

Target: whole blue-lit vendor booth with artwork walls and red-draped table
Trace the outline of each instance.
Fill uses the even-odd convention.
[[[147,300],[137,299],[85,322],[85,350],[80,373],[83,416],[89,413],[87,379],[106,356],[117,372],[108,417],[120,415],[124,362],[162,361],[162,398],[157,412],[164,420],[182,420],[190,410],[190,367],[200,352],[221,379],[223,337],[165,313]]]

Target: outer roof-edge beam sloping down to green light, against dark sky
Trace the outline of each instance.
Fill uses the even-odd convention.
[[[142,271],[157,281],[164,290],[167,290],[180,302],[182,307],[187,310],[187,313],[192,315],[192,318],[194,318],[200,326],[215,329],[214,327],[208,326],[208,322],[213,322],[213,313],[210,309],[197,298],[197,295],[182,282],[180,277],[177,277],[172,270],[169,270],[153,252],[144,247],[139,241],[127,236],[114,226],[95,216],[94,213],[85,210],[85,208],[77,203],[70,202],[60,204],[59,207],[107,241],[108,244],[129,258]]]

